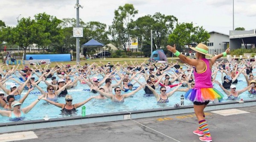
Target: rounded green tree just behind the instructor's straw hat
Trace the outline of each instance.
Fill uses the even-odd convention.
[[[191,45],[191,43],[207,43],[210,38],[209,33],[203,26],[193,26],[193,23],[177,23],[172,34],[169,35],[170,44],[178,44],[181,47]]]

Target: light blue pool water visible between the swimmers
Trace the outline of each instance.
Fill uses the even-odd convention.
[[[183,67],[183,70],[185,67]],[[37,76],[35,76],[37,79]],[[73,78],[73,77],[71,77]],[[98,78],[102,78],[100,75]],[[120,79],[118,76],[116,76],[117,79]],[[15,78],[18,80],[18,78]],[[221,73],[218,72],[216,80],[221,82]],[[47,81],[51,81],[50,79],[47,79]],[[143,76],[139,79],[141,82],[145,82],[145,79]],[[244,75],[239,75],[238,78],[238,84],[235,84],[237,89],[241,90],[244,87],[247,87],[246,80],[244,78]],[[6,82],[6,88],[9,88],[9,85],[12,84],[12,80],[9,80]],[[133,82],[133,81],[132,81]],[[113,80],[112,84],[115,84],[116,82]],[[174,84],[178,83],[175,81]],[[43,90],[46,90],[47,85],[41,81],[39,84]],[[140,84],[136,83],[134,84],[134,89],[136,87],[139,87]],[[224,100],[223,101],[232,101],[227,100],[227,95],[225,95],[224,91],[221,90],[221,88],[218,86],[218,84],[214,84],[214,87],[219,90],[221,93],[224,94]],[[160,93],[160,87],[157,87],[157,93]],[[182,87],[180,87],[182,88]],[[88,99],[90,96],[97,96],[97,94],[91,93],[90,88],[86,84],[80,84],[78,81],[78,85],[70,90],[68,90],[68,94],[73,96],[73,104],[79,103],[81,101],[84,101]],[[23,93],[21,93],[21,97],[27,92],[27,90],[24,90]],[[113,92],[114,94],[114,92]],[[124,94],[124,92],[122,92]],[[179,103],[180,104],[180,96],[184,95],[184,92],[175,92],[170,98],[169,103],[166,104],[158,104],[155,97],[145,97],[144,96],[145,91],[141,89],[136,94],[134,94],[132,97],[125,99],[124,103],[113,103],[111,99],[105,99],[105,100],[99,100],[99,99],[92,99],[86,104],[86,115],[92,115],[92,114],[103,114],[103,113],[115,113],[115,112],[126,112],[126,111],[132,111],[132,110],[146,110],[146,109],[155,109],[155,108],[166,108],[166,107],[174,107],[174,104]],[[27,99],[24,101],[21,108],[28,106],[31,104],[31,102],[35,101],[38,98],[38,95],[41,95],[39,90],[35,88],[27,97]],[[250,99],[256,99],[256,95],[250,95],[247,91],[240,94],[240,99],[243,100],[250,100]],[[59,103],[65,103],[64,97],[58,98]],[[212,102],[210,102],[212,103]],[[192,105],[191,101],[184,100],[184,105]],[[1,110],[3,110],[1,108]],[[38,102],[38,104],[35,105],[35,107],[30,110],[29,113],[27,113],[24,120],[38,120],[43,119],[45,115],[48,115],[49,118],[61,118],[61,117],[69,117],[69,116],[81,116],[81,107],[77,109],[75,113],[71,114],[64,114],[61,113],[61,108],[56,107],[52,104],[47,103],[44,100],[41,100]],[[0,123],[3,122],[11,122],[9,120],[9,117],[3,117],[0,116]]]

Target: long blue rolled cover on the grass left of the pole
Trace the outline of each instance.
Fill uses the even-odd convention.
[[[26,55],[26,60],[45,60],[50,59],[51,62],[71,61],[71,54],[35,54]]]

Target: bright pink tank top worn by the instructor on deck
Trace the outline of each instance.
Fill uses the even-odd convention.
[[[212,88],[212,70],[209,67],[209,60],[206,58],[201,59],[206,64],[206,70],[203,72],[196,72],[194,69],[195,76],[195,89],[200,88]]]

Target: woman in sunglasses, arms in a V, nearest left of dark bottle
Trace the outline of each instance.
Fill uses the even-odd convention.
[[[169,102],[169,97],[173,95],[173,93],[175,93],[175,91],[177,91],[177,89],[181,86],[180,84],[171,92],[166,93],[166,87],[162,86],[160,87],[160,94],[158,94],[156,92],[156,90],[154,90],[151,86],[149,86],[148,84],[146,84],[147,87],[153,92],[155,98],[157,99],[157,103],[168,103]]]

